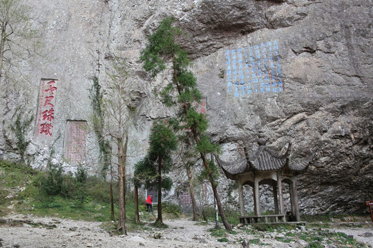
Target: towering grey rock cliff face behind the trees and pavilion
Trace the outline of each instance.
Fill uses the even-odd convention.
[[[111,57],[119,55],[131,65],[133,105],[140,110],[129,137],[133,165],[146,150],[152,120],[172,115],[152,93],[161,76],[151,81],[139,61],[146,36],[172,14],[185,32],[180,42],[193,58],[192,70],[207,99],[209,134],[222,145],[223,158],[243,156],[244,145],[254,150],[262,130],[275,149],[291,141],[294,159],[315,154],[307,172],[298,176],[302,213],[364,211],[364,200],[373,198],[372,1],[37,0],[28,5],[45,28],[44,43],[53,59],[21,65],[31,75],[23,84],[22,92],[28,92],[23,100],[10,87],[3,96],[4,158],[17,158],[9,124],[21,106],[36,119],[26,134],[33,167],[44,167],[50,159],[69,167],[66,158],[79,161],[76,154],[81,154],[92,172],[99,170],[89,89],[94,76],[105,87]],[[58,85],[48,139],[35,131],[41,79],[55,79]],[[85,136],[71,131],[78,122],[86,125]],[[75,157],[67,134],[84,139]],[[178,175],[169,194],[175,201],[187,192],[187,177]],[[199,190],[209,192],[204,186]],[[220,191],[234,205],[234,184],[222,180]],[[267,204],[263,198],[262,205]]]

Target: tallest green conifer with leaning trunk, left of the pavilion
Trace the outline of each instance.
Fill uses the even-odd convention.
[[[142,50],[140,59],[144,63],[144,70],[153,77],[164,71],[167,63],[171,63],[172,81],[160,93],[162,101],[167,106],[178,106],[178,119],[173,123],[175,128],[191,130],[195,150],[200,154],[204,174],[211,183],[220,217],[224,227],[231,230],[231,225],[225,217],[218,195],[216,182],[218,169],[213,161],[209,161],[206,156],[206,154],[218,152],[218,146],[212,144],[206,134],[209,126],[206,116],[196,112],[193,107],[193,103],[200,103],[202,94],[197,89],[195,76],[188,70],[191,61],[188,59],[187,51],[180,48],[176,42],[176,38],[182,32],[175,28],[173,23],[175,23],[173,17],[168,17],[160,22],[156,32],[148,37],[148,44]]]

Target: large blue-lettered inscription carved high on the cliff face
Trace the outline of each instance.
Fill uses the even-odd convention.
[[[226,50],[225,61],[224,83],[235,97],[284,90],[277,40]]]

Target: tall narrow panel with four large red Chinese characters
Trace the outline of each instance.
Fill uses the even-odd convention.
[[[53,134],[53,120],[55,118],[55,102],[57,80],[41,79],[39,94],[39,109],[37,116],[37,136],[50,138]]]

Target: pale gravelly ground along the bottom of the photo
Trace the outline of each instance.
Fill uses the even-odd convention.
[[[292,230],[275,229],[258,231],[251,227],[234,227],[231,234],[225,232],[228,242],[219,242],[220,237],[211,236],[209,225],[196,225],[189,219],[164,220],[167,229],[154,229],[146,223],[141,231],[128,231],[128,236],[111,236],[99,222],[85,222],[51,217],[36,217],[10,214],[0,218],[0,247],[307,247],[304,240],[294,237],[312,235],[319,228],[297,228]],[[323,229],[324,230],[324,229]],[[373,247],[373,226],[330,227],[325,230],[329,236],[343,232],[353,236],[364,247]],[[286,241],[292,236],[291,242]],[[298,239],[298,240],[297,240]],[[324,238],[324,247],[341,247]],[[329,240],[330,241],[330,240]],[[342,247],[354,247],[345,245]]]

